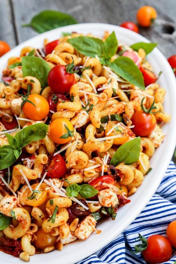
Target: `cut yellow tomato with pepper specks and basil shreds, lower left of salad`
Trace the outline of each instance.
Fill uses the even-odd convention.
[[[31,192],[30,189],[27,189],[23,193],[23,202],[30,206],[39,206],[43,204],[47,198],[47,192],[46,190],[47,185],[45,183],[42,183],[38,190],[36,190],[38,186],[38,183],[35,183],[31,185],[31,188],[33,192]]]

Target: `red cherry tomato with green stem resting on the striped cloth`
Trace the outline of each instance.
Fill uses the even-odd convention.
[[[172,255],[170,242],[161,235],[153,235],[147,238],[148,246],[142,251],[147,263],[155,264],[168,261]]]

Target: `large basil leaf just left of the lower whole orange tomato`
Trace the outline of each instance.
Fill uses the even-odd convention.
[[[32,141],[38,141],[45,138],[48,131],[48,126],[44,123],[37,123],[31,126],[26,126],[16,133],[15,138],[21,148],[25,147]]]

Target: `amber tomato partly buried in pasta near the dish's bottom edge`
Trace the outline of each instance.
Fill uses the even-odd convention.
[[[34,239],[34,246],[36,248],[45,249],[49,246],[55,246],[57,243],[57,236],[52,236],[50,232],[45,233],[41,227],[35,233],[35,236],[37,237],[37,239]]]

